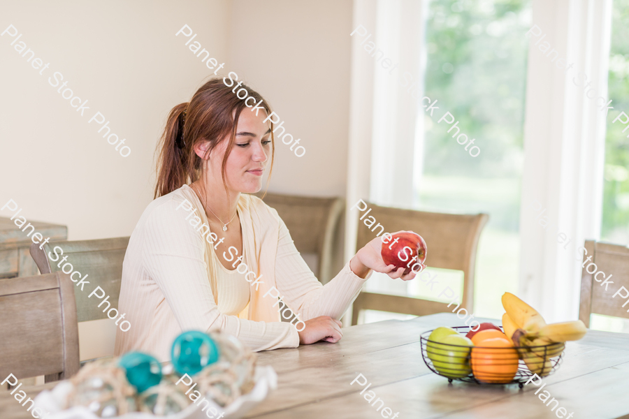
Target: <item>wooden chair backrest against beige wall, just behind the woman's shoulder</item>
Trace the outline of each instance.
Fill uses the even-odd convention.
[[[262,193],[256,196],[262,197]],[[342,198],[310,198],[267,193],[264,203],[275,208],[300,253],[317,253],[317,278],[326,284],[333,277],[333,242],[343,212]]]

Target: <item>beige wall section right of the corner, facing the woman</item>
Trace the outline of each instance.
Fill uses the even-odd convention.
[[[231,2],[229,67],[306,149],[276,139],[269,191],[345,196],[352,1]],[[281,129],[280,129],[281,131]]]

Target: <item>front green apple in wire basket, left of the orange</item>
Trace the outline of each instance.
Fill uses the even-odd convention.
[[[463,335],[447,335],[440,339],[440,344],[435,344],[436,348],[432,355],[433,366],[442,375],[448,378],[461,378],[468,376],[472,372],[470,367],[470,351],[472,341]]]

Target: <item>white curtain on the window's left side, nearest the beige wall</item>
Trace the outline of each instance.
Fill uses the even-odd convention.
[[[427,1],[378,0],[377,47],[396,67],[374,62],[373,154],[370,199],[379,205],[412,207],[414,179],[421,175],[424,91],[424,16]],[[374,58],[375,59],[375,58]],[[418,114],[421,111],[421,114]],[[423,135],[422,135],[423,136]]]

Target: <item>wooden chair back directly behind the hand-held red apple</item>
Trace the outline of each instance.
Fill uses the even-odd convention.
[[[370,216],[380,223],[386,233],[411,230],[426,241],[426,265],[463,271],[461,307],[471,313],[474,307],[474,272],[480,233],[489,219],[488,214],[445,214],[380,207],[368,203]],[[372,232],[359,220],[356,249],[373,240],[381,230]],[[375,228],[374,228],[375,229]],[[380,235],[382,237],[382,235]],[[354,301],[352,325],[358,324],[361,310],[426,316],[451,311],[446,303],[415,297],[387,295],[362,291]]]

